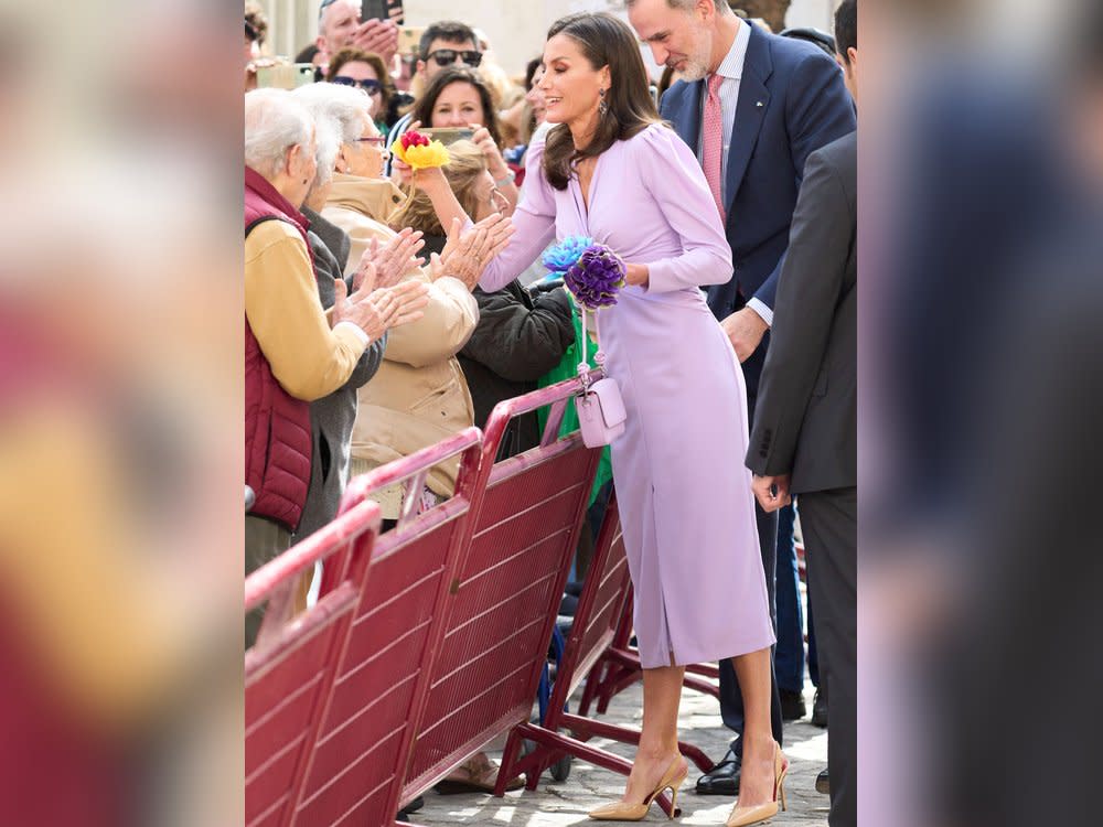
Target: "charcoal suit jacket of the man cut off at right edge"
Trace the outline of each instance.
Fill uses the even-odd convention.
[[[794,494],[857,485],[858,139],[808,158],[747,452]]]

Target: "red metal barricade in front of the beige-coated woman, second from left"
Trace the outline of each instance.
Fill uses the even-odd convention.
[[[403,517],[376,543],[372,576],[336,667],[330,704],[293,824],[302,827],[394,824],[401,781],[445,631],[478,485],[479,429],[354,479],[346,501],[409,480]],[[416,514],[426,475],[463,453],[449,501]],[[323,592],[330,582],[323,584]]]

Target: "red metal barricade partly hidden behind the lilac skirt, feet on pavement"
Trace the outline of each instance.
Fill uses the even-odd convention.
[[[524,772],[529,790],[535,790],[540,773],[556,763],[564,754],[571,754],[592,764],[628,775],[631,762],[583,743],[593,737],[609,738],[622,743],[639,743],[640,731],[571,715],[565,711],[567,700],[583,676],[591,674],[596,664],[607,657],[623,617],[624,606],[631,606],[631,580],[624,556],[623,534],[617,508],[615,493],[610,497],[606,518],[598,535],[593,558],[586,577],[586,586],[578,599],[575,619],[567,645],[556,673],[555,686],[548,701],[543,723],[522,723],[510,733],[502,758],[496,795],[505,790],[505,780]],[[566,729],[574,738],[559,732]],[[527,755],[520,758],[524,739],[536,743]],[[704,772],[713,762],[696,747],[679,743],[682,754],[689,758]],[[660,805],[670,815],[671,802],[664,794]]]

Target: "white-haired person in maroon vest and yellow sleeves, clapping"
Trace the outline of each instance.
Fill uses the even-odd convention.
[[[317,127],[290,93],[245,96],[245,482],[246,569],[290,545],[310,484],[310,402],[345,385],[388,327],[414,321],[424,286],[375,289],[374,268],[349,293],[333,282],[326,316],[299,207],[317,172]],[[246,623],[247,640],[259,614]]]

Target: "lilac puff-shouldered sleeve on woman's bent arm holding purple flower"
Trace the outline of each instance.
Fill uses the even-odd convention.
[[[667,292],[731,278],[731,248],[705,173],[671,129],[651,127],[633,142],[633,162],[647,192],[682,237],[682,255],[649,261],[649,292]]]

